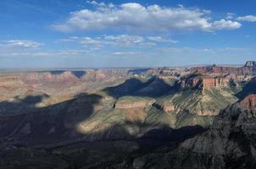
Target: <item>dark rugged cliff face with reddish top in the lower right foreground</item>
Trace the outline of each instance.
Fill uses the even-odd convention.
[[[248,95],[215,117],[205,133],[187,139],[169,153],[144,159],[149,157],[150,163],[155,157],[159,160],[154,161],[156,166],[167,161],[165,167],[172,168],[253,168],[256,165],[255,102],[256,95]]]

